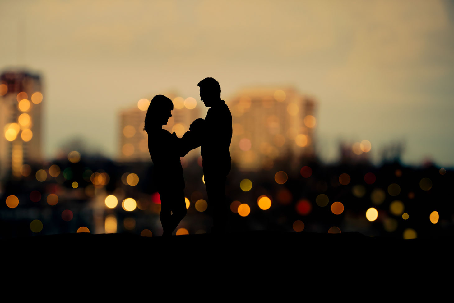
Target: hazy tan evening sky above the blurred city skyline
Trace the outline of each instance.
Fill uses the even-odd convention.
[[[194,97],[216,78],[222,98],[293,84],[319,100],[317,140],[403,160],[454,165],[451,1],[1,1],[0,69],[44,77],[44,147],[72,137],[118,153],[118,112],[176,90]]]

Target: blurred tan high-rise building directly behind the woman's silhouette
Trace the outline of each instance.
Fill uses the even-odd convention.
[[[189,125],[200,118],[200,106],[196,99],[178,97],[174,93],[165,94],[173,101],[172,117],[163,128],[182,137],[189,130]],[[137,106],[120,112],[119,124],[119,161],[150,161],[148,152],[148,134],[143,131],[149,99],[140,99]],[[198,152],[198,153],[197,153]],[[187,157],[200,155],[200,148],[192,150]]]

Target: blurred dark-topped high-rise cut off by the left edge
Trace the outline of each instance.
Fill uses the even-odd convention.
[[[42,101],[38,74],[6,71],[0,75],[0,179],[26,175],[28,163],[42,161]]]

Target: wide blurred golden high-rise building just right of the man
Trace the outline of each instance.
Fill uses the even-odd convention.
[[[271,169],[274,161],[314,155],[316,101],[295,88],[257,87],[227,102],[232,112],[232,161],[240,169]]]

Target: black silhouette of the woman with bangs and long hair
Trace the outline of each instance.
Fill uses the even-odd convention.
[[[154,165],[154,182],[161,197],[159,217],[163,225],[163,236],[172,235],[186,215],[183,191],[185,184],[180,157],[192,149],[189,147],[190,132],[186,132],[183,138],[178,138],[175,132],[171,134],[162,128],[172,117],[171,110],[172,100],[163,95],[154,96],[148,106],[143,127],[148,133],[148,151]]]

